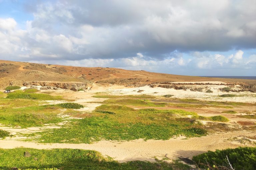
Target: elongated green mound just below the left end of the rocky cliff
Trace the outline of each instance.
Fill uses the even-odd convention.
[[[15,91],[7,94],[8,99],[34,99],[34,100],[61,100],[60,96],[50,96],[48,94],[27,93]]]

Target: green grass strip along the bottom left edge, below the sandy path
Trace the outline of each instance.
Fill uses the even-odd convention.
[[[24,157],[25,151],[31,157]],[[21,168],[58,168],[62,170],[189,170],[188,165],[177,161],[146,162],[130,161],[118,163],[111,158],[103,157],[99,152],[83,149],[31,149],[15,148],[0,149],[0,169],[9,170],[13,167]],[[37,161],[34,158],[37,158]]]

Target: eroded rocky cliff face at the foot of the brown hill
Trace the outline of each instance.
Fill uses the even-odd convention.
[[[30,81],[24,82],[23,86],[52,86],[62,89],[70,89],[73,91],[78,91],[79,89],[87,89],[92,86],[91,83],[82,82],[53,82],[53,81]]]

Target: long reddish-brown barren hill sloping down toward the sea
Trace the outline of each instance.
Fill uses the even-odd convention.
[[[75,67],[0,60],[0,89],[22,86],[27,81],[82,82],[98,85],[143,86],[154,82],[222,81],[237,84],[256,84],[256,80],[182,76],[118,68]]]

